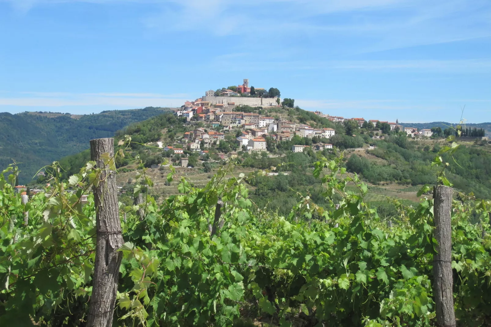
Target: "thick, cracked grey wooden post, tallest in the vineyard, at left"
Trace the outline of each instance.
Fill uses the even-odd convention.
[[[115,172],[104,164],[101,156],[114,156],[114,140],[98,138],[90,141],[90,158],[101,168],[99,185],[94,186],[94,202],[97,219],[97,245],[94,265],[92,298],[87,327],[110,327],[122,253],[117,252],[124,241],[121,235]]]

